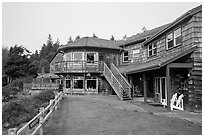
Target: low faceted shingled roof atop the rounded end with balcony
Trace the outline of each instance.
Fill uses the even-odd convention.
[[[122,48],[117,46],[116,41],[94,38],[94,37],[83,37],[74,42],[70,42],[66,45],[59,47],[58,50],[65,48],[80,48],[80,47],[95,47],[95,48],[106,48],[121,50]]]

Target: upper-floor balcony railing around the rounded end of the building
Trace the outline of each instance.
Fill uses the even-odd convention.
[[[102,61],[60,61],[55,62],[55,73],[99,72],[103,70]]]

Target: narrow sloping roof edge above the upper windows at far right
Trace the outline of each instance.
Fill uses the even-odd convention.
[[[202,11],[202,5],[197,6],[189,11],[187,11],[186,13],[184,13],[183,15],[181,15],[180,17],[178,17],[176,20],[174,20],[173,22],[171,22],[169,25],[167,25],[165,28],[163,28],[162,30],[160,30],[158,33],[156,33],[155,35],[153,35],[150,39],[146,40],[143,44],[146,45],[149,42],[153,41],[155,38],[159,37],[160,35],[162,35],[163,33],[165,33],[166,31],[168,31],[169,29],[171,29],[172,27],[174,27],[175,25],[177,25],[178,23],[182,22],[183,20],[185,20],[188,17],[193,16],[194,14],[198,13]]]

